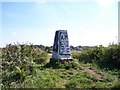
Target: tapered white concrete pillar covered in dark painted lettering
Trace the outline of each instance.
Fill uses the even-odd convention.
[[[67,30],[57,30],[54,37],[52,59],[72,60]]]

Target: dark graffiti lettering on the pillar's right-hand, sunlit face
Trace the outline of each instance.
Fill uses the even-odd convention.
[[[68,34],[65,30],[59,33],[59,53],[60,55],[70,55]]]

